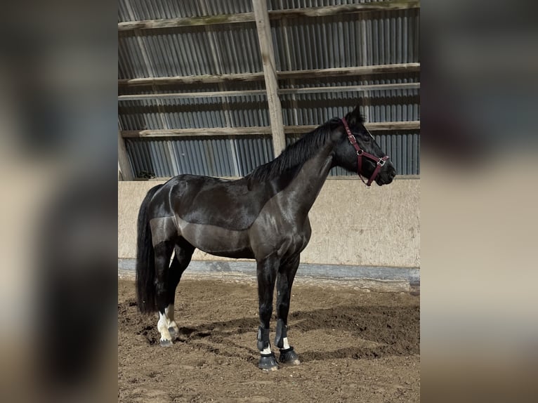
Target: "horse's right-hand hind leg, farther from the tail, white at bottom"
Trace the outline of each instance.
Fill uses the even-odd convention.
[[[168,319],[168,331],[172,338],[175,338],[179,334],[178,325],[174,320],[173,314],[173,303],[176,299],[176,288],[181,280],[181,275],[187,268],[190,263],[190,258],[192,253],[194,253],[195,247],[182,240],[178,242],[175,249],[175,255],[172,259],[172,264],[170,265],[169,275],[168,275],[168,304],[164,309],[166,318]]]

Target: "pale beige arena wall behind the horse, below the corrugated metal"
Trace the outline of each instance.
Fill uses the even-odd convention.
[[[136,258],[136,218],[147,190],[162,181],[118,182],[118,258]],[[310,211],[312,238],[302,263],[420,266],[420,180],[367,189],[357,178],[329,179]],[[196,251],[193,260],[232,260]]]

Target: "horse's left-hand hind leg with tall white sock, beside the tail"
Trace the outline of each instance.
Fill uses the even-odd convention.
[[[172,345],[172,338],[168,330],[169,320],[166,317],[166,307],[168,306],[169,293],[169,264],[172,256],[174,242],[171,240],[159,242],[155,249],[155,291],[157,294],[157,310],[159,311],[159,322],[157,330],[161,333],[161,345],[166,347]]]

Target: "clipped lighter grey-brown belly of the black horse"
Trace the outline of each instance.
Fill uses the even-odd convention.
[[[193,224],[178,218],[178,232],[197,249],[228,258],[254,258],[247,230],[227,230],[209,224]]]

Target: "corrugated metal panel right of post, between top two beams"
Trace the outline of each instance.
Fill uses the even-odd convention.
[[[273,20],[277,70],[418,62],[418,37],[408,32],[418,16],[411,9]]]

